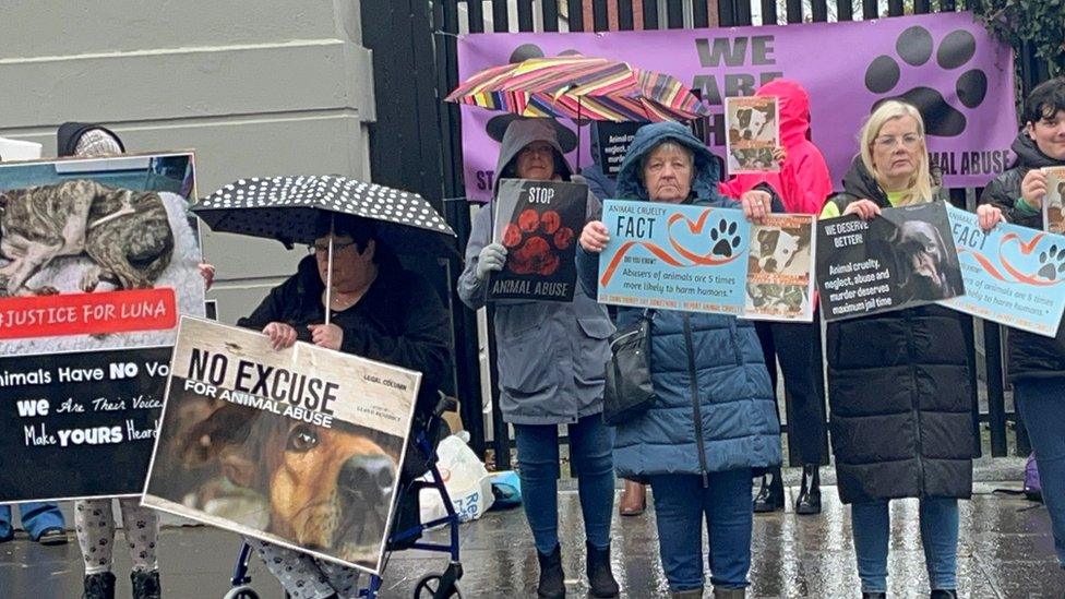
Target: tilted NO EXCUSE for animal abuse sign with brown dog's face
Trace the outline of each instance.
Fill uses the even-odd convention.
[[[182,319],[144,504],[379,573],[421,374]]]

